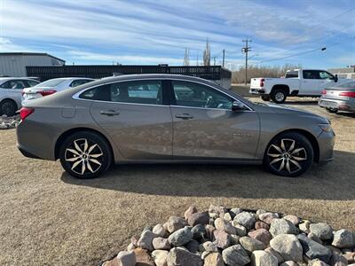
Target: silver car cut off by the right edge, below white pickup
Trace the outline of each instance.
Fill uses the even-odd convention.
[[[323,90],[319,106],[326,108],[330,113],[355,112],[355,81]]]

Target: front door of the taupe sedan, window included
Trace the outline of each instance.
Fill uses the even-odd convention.
[[[259,117],[208,85],[171,81],[174,160],[255,159]]]

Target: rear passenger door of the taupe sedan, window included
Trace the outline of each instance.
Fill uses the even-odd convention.
[[[160,80],[114,82],[87,90],[93,119],[125,160],[171,160],[172,118]]]

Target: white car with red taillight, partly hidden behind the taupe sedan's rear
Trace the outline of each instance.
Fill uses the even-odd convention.
[[[60,90],[66,90],[68,88],[74,88],[79,85],[83,85],[87,82],[92,82],[90,78],[58,78],[51,79],[37,84],[35,87],[22,90],[23,101],[27,101],[34,98],[42,98],[47,95],[51,95]]]

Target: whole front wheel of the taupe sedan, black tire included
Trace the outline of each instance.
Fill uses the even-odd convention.
[[[264,168],[278,176],[301,176],[311,168],[313,157],[307,137],[296,132],[281,133],[266,147]]]

